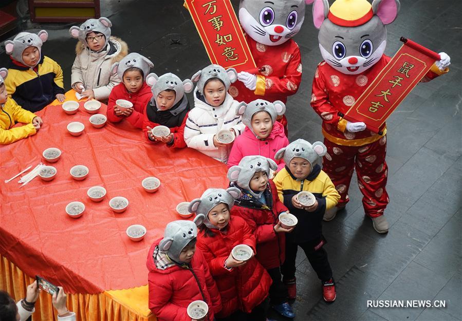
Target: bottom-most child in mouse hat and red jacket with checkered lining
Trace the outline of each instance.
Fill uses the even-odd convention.
[[[213,321],[221,310],[220,295],[207,261],[196,248],[195,222],[168,223],[163,238],[156,240],[147,254],[149,308],[159,321],[191,321],[187,308],[195,300],[209,306],[204,320]]]

